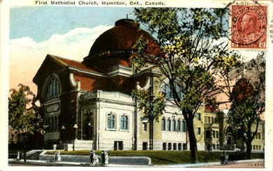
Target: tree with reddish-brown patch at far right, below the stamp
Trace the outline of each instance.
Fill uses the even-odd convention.
[[[265,111],[264,54],[258,54],[257,58],[244,65],[244,69],[246,73],[235,83],[230,95],[232,105],[228,123],[246,144],[246,158],[251,159],[251,142]]]

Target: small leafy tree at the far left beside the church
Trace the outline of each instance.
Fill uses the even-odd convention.
[[[19,84],[19,90],[11,89],[8,97],[8,124],[19,135],[24,144],[24,161],[26,161],[26,148],[29,133],[43,133],[45,125],[39,114],[39,105],[29,86]],[[36,102],[36,103],[35,103]],[[30,108],[27,106],[32,105]]]

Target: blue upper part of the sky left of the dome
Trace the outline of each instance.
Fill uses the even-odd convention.
[[[10,8],[10,39],[29,37],[36,42],[53,34],[64,34],[75,28],[113,26],[126,18],[133,8],[23,6]],[[133,19],[133,15],[128,15]]]

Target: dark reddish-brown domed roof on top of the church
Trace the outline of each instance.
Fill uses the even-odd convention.
[[[89,56],[96,56],[106,51],[128,51],[133,49],[140,35],[149,42],[154,42],[149,33],[140,29],[133,19],[119,19],[115,26],[102,33],[94,42]]]

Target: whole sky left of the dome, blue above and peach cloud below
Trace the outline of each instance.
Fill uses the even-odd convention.
[[[20,6],[10,8],[10,88],[30,86],[47,54],[80,60],[101,33],[133,8]]]

